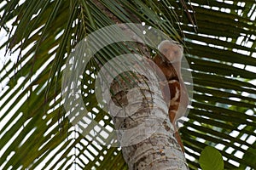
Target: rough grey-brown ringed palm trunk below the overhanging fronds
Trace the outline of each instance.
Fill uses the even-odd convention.
[[[138,108],[134,112],[129,108],[129,115],[125,117],[119,114],[113,116],[114,125],[120,130],[119,141],[123,145],[123,156],[129,169],[189,169],[183,151],[173,137],[174,128],[160,90],[152,92],[148,88],[150,82],[147,78],[142,75],[137,77],[133,82],[125,82],[117,77],[111,86],[115,92],[113,101],[121,106],[117,111],[120,115],[127,111],[126,107]],[[143,97],[138,97],[139,93]],[[128,129],[131,131],[124,133]]]

